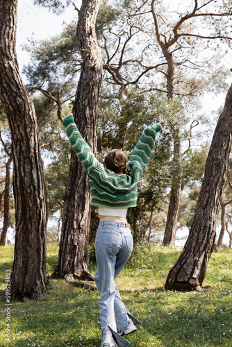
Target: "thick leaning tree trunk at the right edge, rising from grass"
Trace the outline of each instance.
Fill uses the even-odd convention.
[[[201,290],[213,251],[219,204],[231,151],[232,85],[220,115],[206,162],[206,171],[187,242],[169,271],[165,289]]]

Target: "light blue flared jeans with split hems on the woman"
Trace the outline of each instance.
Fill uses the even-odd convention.
[[[119,336],[117,331],[126,330],[129,318],[140,323],[126,309],[115,285],[115,278],[129,260],[132,250],[133,237],[125,223],[100,221],[95,241],[97,271],[94,280],[101,294],[99,312],[102,344],[104,335],[110,330],[119,347],[128,346],[129,341]]]

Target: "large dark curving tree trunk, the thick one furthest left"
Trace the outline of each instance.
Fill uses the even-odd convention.
[[[0,0],[0,99],[12,137],[16,222],[10,294],[25,301],[47,290],[47,225],[35,108],[19,75],[16,25],[17,0]]]

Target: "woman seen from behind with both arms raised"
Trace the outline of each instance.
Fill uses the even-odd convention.
[[[110,151],[101,164],[90,150],[68,115],[63,120],[65,131],[76,155],[90,179],[92,205],[99,207],[99,228],[95,242],[97,271],[94,276],[100,291],[101,347],[126,347],[124,335],[137,330],[140,323],[125,307],[115,285],[115,278],[131,255],[133,238],[126,221],[127,209],[136,206],[140,176],[147,167],[160,124],[144,130],[131,153],[128,167],[126,155],[119,149]]]

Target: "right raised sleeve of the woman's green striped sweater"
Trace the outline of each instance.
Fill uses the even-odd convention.
[[[129,167],[134,172],[136,171],[138,179],[143,174],[147,164],[149,163],[156,142],[156,134],[160,130],[162,130],[160,124],[151,124],[151,126],[143,131],[138,143],[131,153]]]

